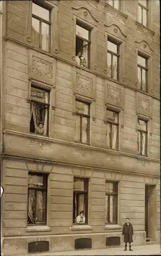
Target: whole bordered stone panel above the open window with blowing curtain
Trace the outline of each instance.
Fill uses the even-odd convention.
[[[29,53],[29,77],[45,82],[50,85],[55,84],[56,60],[47,55],[42,55],[35,51]]]

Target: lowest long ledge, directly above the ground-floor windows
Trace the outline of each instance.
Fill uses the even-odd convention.
[[[127,172],[126,170],[120,170],[120,169],[111,169],[111,168],[100,168],[100,167],[95,167],[95,166],[87,166],[87,165],[78,165],[78,164],[72,164],[72,163],[65,163],[65,162],[57,162],[57,161],[51,161],[51,160],[46,160],[46,159],[37,159],[37,158],[29,158],[29,157],[21,157],[21,156],[14,156],[14,155],[7,155],[3,154],[2,159],[14,159],[14,160],[20,160],[20,161],[30,161],[30,162],[40,162],[40,163],[45,163],[45,164],[57,164],[57,165],[63,165],[67,167],[77,167],[77,168],[85,168],[85,169],[91,169],[91,170],[100,170],[102,172],[111,172],[116,173],[116,174],[127,174],[127,175],[140,175],[144,177],[155,177],[155,178],[160,178],[159,175],[147,175],[144,173],[137,173],[137,172]]]

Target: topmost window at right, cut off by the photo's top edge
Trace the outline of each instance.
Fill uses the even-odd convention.
[[[139,0],[138,3],[138,22],[148,27],[148,1]]]

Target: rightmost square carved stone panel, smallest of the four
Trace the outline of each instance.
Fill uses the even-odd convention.
[[[151,117],[151,97],[136,93],[136,109],[137,114]]]

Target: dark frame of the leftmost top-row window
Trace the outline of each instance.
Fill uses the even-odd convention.
[[[38,49],[43,50],[42,49],[42,40],[41,40],[42,22],[49,25],[49,51],[47,51],[47,52],[51,52],[51,26],[52,26],[52,22],[51,22],[51,17],[52,17],[51,16],[51,8],[45,6],[45,4],[42,4],[42,2],[39,3],[38,1],[34,1],[33,0],[32,3],[34,3],[34,4],[38,5],[38,6],[40,6],[41,8],[46,9],[46,10],[49,11],[49,22],[48,22],[48,20],[40,18],[40,17],[38,17],[37,15],[35,15],[33,13],[32,13],[32,18],[35,18],[35,19],[39,20],[39,47],[38,47]],[[32,23],[31,23],[31,26],[32,26]],[[32,41],[32,45],[33,45],[33,41]],[[34,46],[34,47],[36,47],[36,46]],[[45,51],[45,50],[43,50],[43,51]]]

